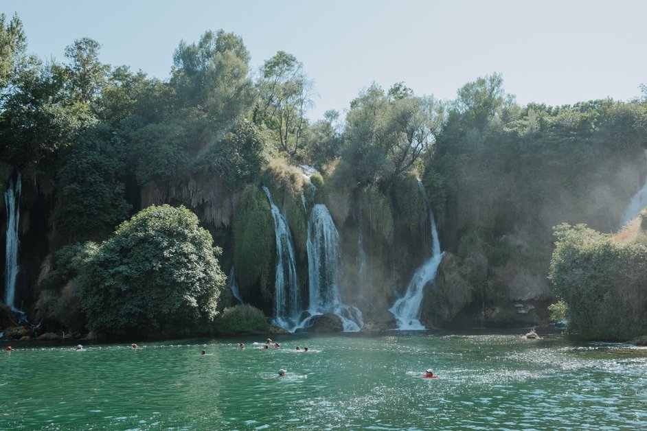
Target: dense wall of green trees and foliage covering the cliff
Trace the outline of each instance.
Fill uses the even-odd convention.
[[[646,174],[644,87],[643,97],[629,102],[520,106],[497,73],[466,83],[451,101],[416,95],[403,82],[388,89],[374,83],[344,115],[328,110],[323,119],[310,121],[313,82],[305,65],[286,51],[252,71],[240,36],[207,31],[169,53],[170,78],[162,81],[103,64],[100,48],[98,41],[78,38],[65,49],[64,62],[43,62],[27,55],[20,19],[0,15],[0,190],[21,172],[21,268],[28,274],[21,278],[23,296],[26,303],[43,305],[34,305],[32,314],[47,314],[67,328],[86,325],[79,307],[87,312],[87,327],[100,331],[168,334],[184,330],[186,322],[186,328],[204,328],[215,310],[210,288],[167,283],[193,292],[181,300],[178,292],[165,296],[183,304],[176,310],[159,295],[150,296],[152,288],[171,287],[163,279],[144,283],[151,274],[188,283],[198,272],[216,271],[220,287],[214,258],[196,266],[179,245],[199,237],[200,253],[213,255],[204,231],[188,233],[198,219],[212,234],[209,241],[223,249],[223,268],[235,268],[243,299],[271,313],[275,250],[262,186],[291,229],[302,290],[308,286],[309,211],[324,203],[341,238],[341,295],[367,319],[389,321],[386,310],[431,253],[431,211],[448,253],[423,318],[430,325],[494,314],[512,321],[514,303],[545,308],[554,302],[547,279],[552,226],[584,222],[599,231],[617,229]],[[308,181],[299,165],[319,172]],[[165,206],[146,209],[163,204],[184,205],[196,215],[178,210],[177,217],[186,219],[179,222]],[[168,230],[144,233],[142,226],[156,211],[183,239],[162,240],[171,236]],[[130,251],[139,229],[149,242]],[[576,244],[573,235],[558,241],[558,256],[565,243]],[[80,245],[104,240],[96,250]],[[177,261],[160,267],[167,257],[162,260],[152,244],[159,250],[177,246]],[[604,261],[620,259],[628,273],[642,268],[636,244],[605,247]],[[78,261],[87,253],[89,269],[78,276]],[[52,268],[44,261],[52,261]],[[574,268],[586,263],[568,261]],[[615,272],[591,277],[598,277],[591,286],[615,292]],[[589,306],[574,306],[576,300],[568,301],[559,287],[575,281],[558,286],[557,279],[558,296],[574,321],[592,327],[595,314],[589,320],[578,315]],[[93,290],[93,283],[104,288]],[[115,286],[128,286],[124,292],[132,296],[126,300]],[[567,290],[591,306],[600,293]],[[151,307],[171,317],[160,320],[137,302],[148,296]],[[186,302],[198,298],[197,308]],[[630,303],[613,301],[633,310]],[[602,316],[604,310],[598,312]],[[624,338],[640,330],[636,322],[631,329],[605,324],[608,331],[589,334]]]

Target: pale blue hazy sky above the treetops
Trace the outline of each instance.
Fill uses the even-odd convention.
[[[404,81],[418,95],[453,99],[492,72],[521,104],[628,100],[647,83],[647,1],[35,1],[17,12],[30,53],[65,61],[65,46],[90,37],[100,58],[168,78],[180,40],[222,28],[245,41],[258,68],[293,54],[315,81],[310,118],[348,109],[372,82]]]

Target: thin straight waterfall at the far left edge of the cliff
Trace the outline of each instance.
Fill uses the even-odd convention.
[[[20,172],[9,180],[9,188],[5,191],[5,207],[7,208],[7,242],[5,248],[5,304],[14,312],[20,312],[14,306],[16,294],[16,278],[18,277],[18,225],[20,222]]]

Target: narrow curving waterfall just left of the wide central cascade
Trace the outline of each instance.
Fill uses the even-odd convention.
[[[263,187],[263,191],[270,202],[272,218],[274,219],[276,241],[275,323],[280,327],[289,328],[294,325],[301,312],[297,264],[292,245],[292,235],[284,216],[274,204],[269,189]]]

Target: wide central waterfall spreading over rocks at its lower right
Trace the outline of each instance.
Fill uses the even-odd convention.
[[[344,331],[359,331],[361,311],[339,298],[339,232],[326,205],[313,207],[308,221],[309,307],[312,315],[332,312],[341,318]]]

